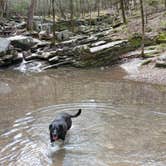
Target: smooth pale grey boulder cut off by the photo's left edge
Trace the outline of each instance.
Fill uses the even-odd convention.
[[[0,57],[6,54],[6,52],[9,50],[9,47],[10,41],[0,37]]]

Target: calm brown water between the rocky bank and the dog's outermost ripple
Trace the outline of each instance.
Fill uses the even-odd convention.
[[[110,70],[56,71],[28,77],[1,73],[1,80],[10,91],[0,92],[0,105],[4,109],[8,105],[11,110],[17,107],[24,110],[91,99],[125,104],[165,103],[166,88],[113,79],[116,75]]]

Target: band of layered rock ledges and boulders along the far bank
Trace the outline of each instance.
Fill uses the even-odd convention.
[[[58,26],[55,44],[52,44],[52,34],[48,30],[51,23],[45,23],[45,29],[33,32],[27,32],[25,24],[24,21],[13,23],[13,20],[3,26],[1,23],[1,68],[22,65],[24,70],[42,71],[61,66],[104,67],[140,57],[140,51],[137,51],[141,45],[139,34],[128,38],[115,37],[117,26],[121,24],[113,26],[107,22],[104,26],[97,25],[96,29],[95,25],[85,26],[79,22],[76,33]],[[145,47],[142,65],[152,63],[157,68],[166,67],[165,36],[165,32],[146,36],[145,46],[150,48]]]

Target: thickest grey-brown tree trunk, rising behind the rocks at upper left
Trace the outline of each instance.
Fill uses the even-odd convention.
[[[27,30],[33,30],[33,16],[36,4],[37,0],[31,0],[31,4],[28,9]]]

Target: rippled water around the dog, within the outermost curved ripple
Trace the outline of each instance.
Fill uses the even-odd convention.
[[[73,119],[65,145],[49,143],[48,125],[60,112],[82,115]],[[164,166],[165,114],[144,107],[111,103],[59,104],[16,119],[0,138],[2,165]],[[157,114],[157,117],[156,117]],[[156,119],[157,118],[157,119]],[[150,137],[149,137],[150,136]],[[162,139],[162,141],[159,141]],[[154,153],[155,152],[155,153]],[[146,160],[145,160],[146,159]]]

